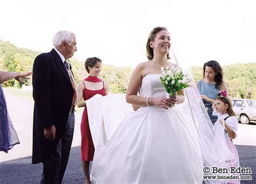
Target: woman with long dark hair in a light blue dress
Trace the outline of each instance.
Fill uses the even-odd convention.
[[[197,87],[212,124],[214,124],[218,117],[212,115],[212,104],[220,90],[227,91],[227,85],[223,81],[223,69],[217,61],[211,60],[204,64],[203,79],[197,82]]]

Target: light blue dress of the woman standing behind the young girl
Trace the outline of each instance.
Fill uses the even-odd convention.
[[[203,80],[200,80],[198,83],[199,83],[198,90],[200,95],[206,95],[208,98],[211,98],[214,100],[217,98],[219,89],[215,88],[215,84],[209,84],[204,82]],[[212,121],[212,124],[214,124],[217,121],[218,117],[212,115],[212,112],[213,112],[212,103],[207,102],[206,100],[203,100],[203,102],[208,112],[208,115]]]

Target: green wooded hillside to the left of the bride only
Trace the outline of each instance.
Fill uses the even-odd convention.
[[[0,70],[28,72],[32,70],[33,61],[42,52],[31,51],[25,48],[17,48],[9,41],[0,39]],[[72,65],[72,72],[77,83],[85,79],[88,73],[85,70],[84,62],[76,59],[69,60]],[[104,62],[104,61],[103,61]],[[132,68],[117,68],[111,65],[102,65],[100,77],[109,83],[110,93],[126,93]],[[21,87],[15,79],[4,82],[5,87]]]

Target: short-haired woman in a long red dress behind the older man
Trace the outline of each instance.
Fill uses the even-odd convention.
[[[95,151],[92,142],[85,101],[96,94],[105,96],[109,93],[109,85],[98,78],[101,65],[102,60],[99,58],[87,58],[85,61],[85,69],[89,73],[89,76],[77,84],[77,107],[84,107],[81,122],[81,159],[86,179],[85,183],[90,183],[89,165],[90,161],[93,160],[93,154]]]

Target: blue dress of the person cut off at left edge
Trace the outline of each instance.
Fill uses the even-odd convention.
[[[8,115],[4,91],[0,84],[0,151],[8,153],[16,144],[19,144],[19,139]]]

